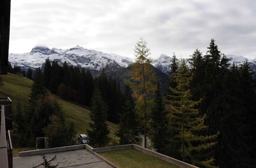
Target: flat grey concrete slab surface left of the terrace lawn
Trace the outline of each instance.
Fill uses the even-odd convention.
[[[108,163],[104,162],[96,155],[92,154],[86,149],[66,151],[58,153],[46,154],[48,160],[56,155],[56,159],[52,161],[53,165],[58,164],[58,168],[64,167],[112,167]],[[42,157],[40,155],[13,157],[14,168],[32,168],[42,163]],[[44,166],[39,166],[42,168]]]

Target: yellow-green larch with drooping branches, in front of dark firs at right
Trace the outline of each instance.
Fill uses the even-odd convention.
[[[205,116],[199,115],[195,108],[199,102],[191,100],[189,90],[190,72],[182,60],[178,73],[174,74],[177,82],[175,89],[169,88],[173,94],[168,95],[173,101],[167,100],[166,109],[170,119],[172,139],[170,146],[173,154],[183,161],[205,167],[214,167],[213,157],[207,155],[207,150],[216,145],[214,139],[217,135],[202,135],[207,127],[204,125]],[[203,158],[197,155],[203,155]]]

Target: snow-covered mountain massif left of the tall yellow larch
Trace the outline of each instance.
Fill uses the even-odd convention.
[[[100,71],[102,68],[105,70],[125,68],[133,62],[131,58],[84,49],[78,45],[66,50],[36,46],[27,53],[9,54],[9,62],[25,70],[28,68],[42,67],[47,58],[49,58],[50,61],[58,61],[60,64],[66,61],[68,65],[96,71]]]

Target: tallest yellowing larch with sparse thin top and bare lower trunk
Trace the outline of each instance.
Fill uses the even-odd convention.
[[[136,110],[140,114],[140,117],[144,120],[145,148],[148,121],[147,116],[151,111],[152,94],[156,90],[154,82],[157,82],[157,78],[151,65],[151,60],[148,58],[149,55],[150,49],[147,48],[146,41],[140,38],[135,46],[136,62],[132,64],[133,70],[130,72],[132,81],[126,81],[127,84],[133,89],[133,96],[137,98]]]

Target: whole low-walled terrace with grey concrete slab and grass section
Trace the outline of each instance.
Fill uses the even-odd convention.
[[[92,148],[88,144],[84,144],[84,145],[74,145],[74,146],[58,147],[58,148],[51,148],[51,149],[19,152],[20,157],[13,158],[13,167],[33,167],[33,166],[39,165],[43,161],[41,157],[42,154],[46,155],[46,158],[48,161],[56,155],[56,159],[53,160],[51,163],[53,165],[58,164],[58,168],[60,167],[118,167],[118,166],[127,167],[126,165],[130,164],[129,156],[127,154],[123,155],[123,159],[126,160],[126,163],[124,163],[125,165],[122,165],[122,164],[116,165],[110,160],[114,159],[113,161],[115,161],[117,159],[118,161],[117,162],[115,161],[115,162],[119,164],[120,155],[115,154],[114,157],[112,158],[110,157],[109,158],[110,160],[108,160],[108,154],[106,153],[111,151],[112,151],[111,153],[120,153],[120,152],[125,153],[129,150],[132,152],[132,154],[130,153],[130,155],[132,156],[133,156],[133,153],[134,154],[137,153],[139,155],[138,157],[142,155],[144,156],[142,159],[137,159],[137,163],[134,166],[141,167],[141,165],[143,165],[148,167],[148,165],[144,163],[147,163],[149,160],[155,160],[155,162],[153,163],[156,165],[156,167],[163,167],[161,165],[165,165],[166,167],[167,165],[167,167],[173,166],[173,167],[183,167],[183,168],[198,168],[197,166],[185,163],[175,158],[157,153],[149,149],[145,149],[143,147],[140,147],[134,144],[103,147],[103,148]],[[105,155],[105,157],[104,156],[102,157],[101,155]],[[128,159],[128,162],[127,162],[127,159]],[[134,161],[136,159],[132,158],[132,160]],[[144,163],[143,162],[141,163],[141,161],[143,160],[144,160]],[[43,166],[40,166],[40,167],[43,167]]]

